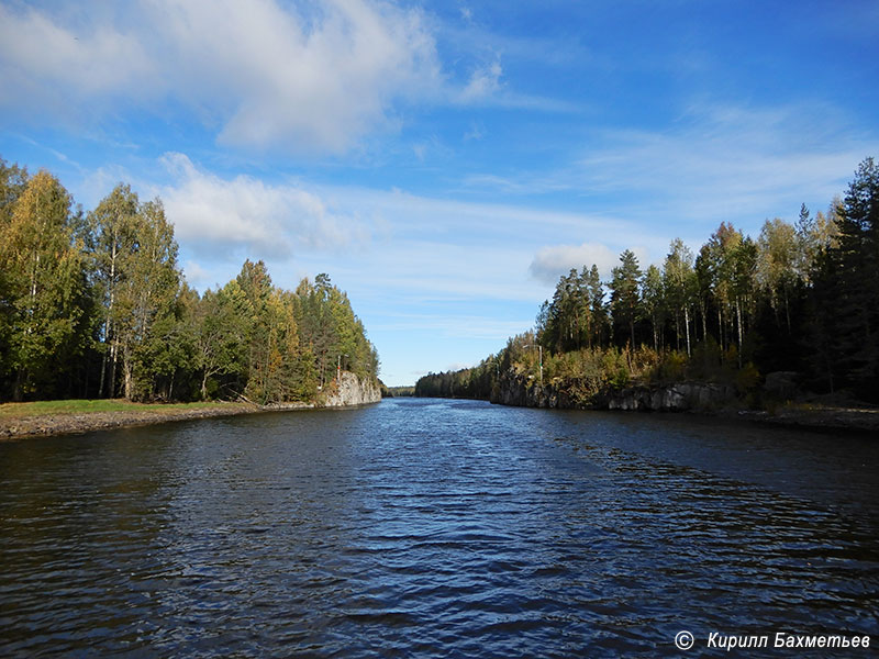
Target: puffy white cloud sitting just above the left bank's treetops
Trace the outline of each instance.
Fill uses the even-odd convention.
[[[287,257],[297,249],[335,250],[368,242],[368,227],[332,212],[300,187],[271,186],[246,176],[231,180],[197,168],[183,154],[163,158],[175,182],[156,192],[177,237],[196,250],[225,249]]]

